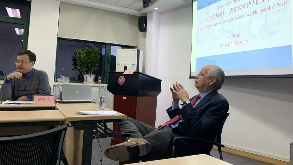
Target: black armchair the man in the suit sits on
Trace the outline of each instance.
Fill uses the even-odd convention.
[[[191,141],[202,141],[202,142],[207,142],[210,144],[213,144],[215,146],[218,147],[218,151],[220,153],[220,159],[223,160],[223,156],[222,156],[222,148],[221,147],[225,147],[224,145],[221,144],[221,136],[222,136],[222,130],[225,124],[225,121],[227,119],[227,117],[230,115],[230,113],[227,113],[226,116],[224,117],[221,127],[216,135],[215,141],[207,141],[207,140],[202,140],[202,139],[195,139],[195,138],[189,138],[189,137],[176,137],[172,140],[172,158],[175,157],[175,142],[179,139],[186,139],[186,140],[191,140]]]

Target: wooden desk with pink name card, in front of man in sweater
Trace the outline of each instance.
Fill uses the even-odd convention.
[[[26,105],[2,105],[0,111],[38,111],[54,110],[55,104],[26,104]]]

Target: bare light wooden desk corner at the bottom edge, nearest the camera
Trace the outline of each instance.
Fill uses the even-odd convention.
[[[208,156],[205,154],[139,163],[139,165],[178,165],[178,164],[184,164],[184,165],[231,165],[230,163],[224,162],[222,160],[216,159],[212,156]]]

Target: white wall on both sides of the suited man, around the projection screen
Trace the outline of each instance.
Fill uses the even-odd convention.
[[[198,94],[189,79],[192,6],[161,13],[156,126],[169,118],[169,87],[182,83],[190,97]],[[293,142],[293,79],[226,79],[219,91],[230,105],[223,132],[225,146],[287,161]]]

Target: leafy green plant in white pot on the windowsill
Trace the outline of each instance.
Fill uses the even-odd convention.
[[[98,69],[100,53],[99,47],[96,46],[92,46],[92,48],[85,47],[74,53],[72,65],[81,73],[84,73],[84,83],[95,83],[96,75],[92,74],[92,72]]]

